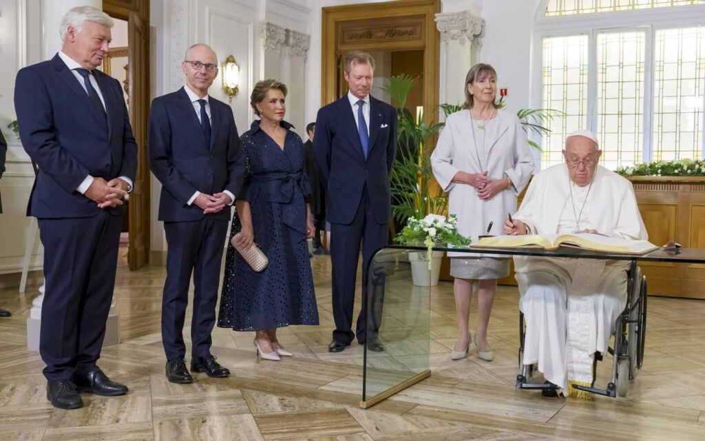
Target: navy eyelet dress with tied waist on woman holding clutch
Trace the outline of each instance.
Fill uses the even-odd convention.
[[[250,203],[255,243],[269,266],[255,272],[228,245],[221,293],[219,327],[254,331],[287,325],[318,325],[311,262],[306,242],[306,198],[310,187],[304,171],[301,138],[287,129],[284,149],[259,128],[243,133],[247,177],[238,198]],[[232,236],[240,231],[233,216]]]

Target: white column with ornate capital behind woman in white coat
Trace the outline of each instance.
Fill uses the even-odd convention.
[[[484,19],[470,11],[437,13],[436,28],[441,32],[441,103],[465,101],[465,75],[477,63],[484,36]]]

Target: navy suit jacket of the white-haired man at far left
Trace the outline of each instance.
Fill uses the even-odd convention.
[[[20,139],[39,166],[27,215],[39,219],[92,217],[101,208],[76,188],[89,174],[135,181],[137,144],[118,80],[94,71],[107,121],[57,54],[17,73],[15,110]],[[124,206],[109,208],[122,215]]]

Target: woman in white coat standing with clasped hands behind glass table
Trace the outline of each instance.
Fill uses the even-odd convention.
[[[502,234],[508,213],[517,209],[517,195],[534,171],[526,133],[515,114],[498,109],[497,73],[489,64],[476,64],[465,77],[465,104],[446,119],[431,164],[441,188],[448,192],[448,213],[458,217],[458,230],[472,241],[487,233]],[[479,358],[492,360],[487,325],[497,279],[509,274],[509,260],[486,255],[448,253],[458,314],[458,339],[450,356],[467,356],[472,337],[468,320],[473,284],[477,281]]]

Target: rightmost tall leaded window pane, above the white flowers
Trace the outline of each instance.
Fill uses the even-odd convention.
[[[705,27],[656,31],[653,159],[701,159]]]

